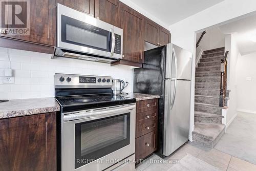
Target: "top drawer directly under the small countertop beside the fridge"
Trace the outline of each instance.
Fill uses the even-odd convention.
[[[136,113],[157,109],[158,99],[142,100],[136,103]]]

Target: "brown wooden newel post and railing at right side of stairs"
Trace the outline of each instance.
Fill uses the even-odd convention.
[[[228,51],[226,51],[224,58],[221,59],[221,86],[220,86],[220,106],[224,107],[225,97],[227,90],[227,56]]]

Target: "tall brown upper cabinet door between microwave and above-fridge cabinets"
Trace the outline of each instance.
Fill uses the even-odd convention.
[[[123,59],[142,62],[143,22],[140,13],[122,5],[121,28],[123,29]]]

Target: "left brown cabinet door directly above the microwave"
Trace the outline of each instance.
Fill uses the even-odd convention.
[[[94,0],[57,0],[57,3],[94,16]]]

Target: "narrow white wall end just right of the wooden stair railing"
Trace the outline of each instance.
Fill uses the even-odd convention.
[[[226,35],[225,51],[229,51],[227,57],[227,90],[229,93],[229,104],[226,114],[226,123],[232,121],[233,117],[237,115],[237,60],[241,56],[237,41],[232,34]]]

